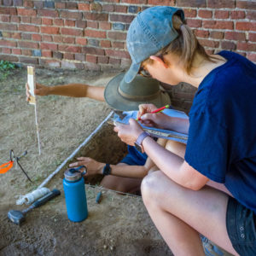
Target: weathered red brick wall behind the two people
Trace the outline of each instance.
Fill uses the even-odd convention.
[[[127,68],[126,31],[139,11],[154,5],[182,8],[208,53],[234,50],[256,62],[254,0],[0,0],[0,60],[95,71]],[[171,95],[189,109],[194,93],[182,84]]]

